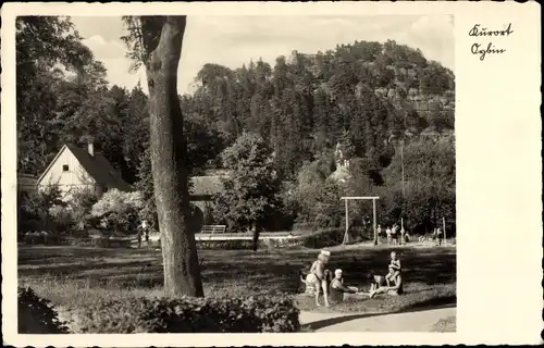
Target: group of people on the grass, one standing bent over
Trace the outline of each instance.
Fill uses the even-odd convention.
[[[355,286],[347,286],[344,284],[343,271],[337,269],[333,273],[326,269],[331,257],[331,252],[322,250],[318,259],[312,263],[310,272],[306,278],[301,275],[300,279],[306,284],[306,294],[316,297],[316,306],[321,306],[319,297],[321,290],[325,306],[329,307],[331,300],[334,303],[342,302],[349,297],[368,296],[373,298],[379,294],[387,294],[391,296],[398,296],[403,294],[403,275],[400,260],[397,258],[395,251],[391,252],[391,262],[388,264],[388,273],[385,276],[369,274],[371,281],[369,291],[363,291]],[[393,284],[393,285],[392,285]]]

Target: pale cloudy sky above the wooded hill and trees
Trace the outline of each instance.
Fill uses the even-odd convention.
[[[138,80],[147,92],[146,73],[129,72],[131,61],[121,40],[125,28],[120,16],[73,16],[83,42],[108,70],[110,85],[133,88]],[[178,70],[180,94],[191,92],[198,71],[206,63],[231,69],[260,58],[272,66],[279,55],[293,50],[317,53],[355,40],[419,48],[428,60],[454,70],[452,15],[374,16],[189,16]]]

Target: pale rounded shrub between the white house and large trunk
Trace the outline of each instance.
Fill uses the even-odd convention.
[[[91,217],[101,219],[115,232],[135,233],[138,228],[138,212],[143,207],[140,192],[112,189],[92,206]]]

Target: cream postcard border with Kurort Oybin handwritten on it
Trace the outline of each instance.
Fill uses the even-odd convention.
[[[495,2],[5,3],[2,7],[2,334],[14,346],[539,344],[542,325],[539,4]],[[453,14],[456,46],[457,332],[342,334],[16,334],[14,18],[50,15]],[[504,28],[502,55],[470,52],[474,24]],[[520,234],[521,237],[520,237]]]

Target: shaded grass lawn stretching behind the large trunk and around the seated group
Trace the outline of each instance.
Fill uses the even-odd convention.
[[[369,271],[387,271],[388,247],[350,246],[332,250],[330,269],[344,270],[347,285],[368,287]],[[345,302],[320,311],[392,312],[456,302],[456,251],[453,247],[398,247],[405,291],[399,297]],[[200,250],[205,295],[276,295],[302,290],[299,271],[319,250]],[[75,309],[100,298],[161,296],[162,258],[154,249],[90,247],[18,247],[18,283],[58,307]],[[314,310],[313,299],[297,296],[301,310]]]

